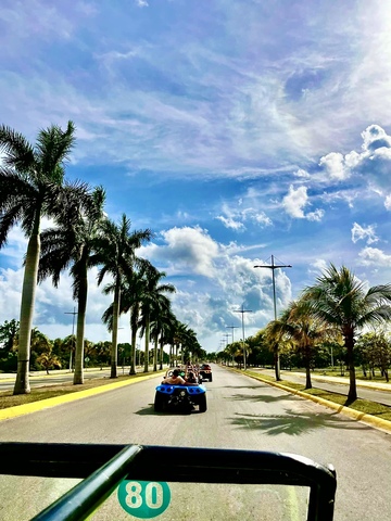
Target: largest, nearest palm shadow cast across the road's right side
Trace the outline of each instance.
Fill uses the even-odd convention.
[[[305,432],[312,432],[316,429],[362,429],[369,430],[363,423],[354,420],[341,418],[338,412],[331,414],[298,414],[291,409],[286,409],[286,415],[242,415],[237,412],[237,418],[231,418],[231,424],[243,429],[261,430],[269,436],[278,434],[288,434],[299,436]]]

